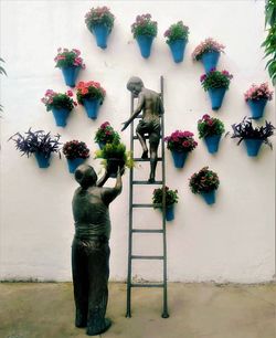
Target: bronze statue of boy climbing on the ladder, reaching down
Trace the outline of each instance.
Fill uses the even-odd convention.
[[[163,114],[163,104],[158,93],[147,89],[139,77],[132,76],[128,83],[127,88],[138,97],[138,105],[134,114],[127,122],[124,123],[121,131],[142,112],[142,118],[136,128],[136,135],[142,147],[141,158],[148,158],[148,147],[146,142],[146,135],[149,137],[150,151],[150,176],[148,181],[150,183],[156,180],[156,167],[158,159],[158,146],[160,141],[160,116]]]

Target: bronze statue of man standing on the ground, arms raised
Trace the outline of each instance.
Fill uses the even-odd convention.
[[[97,182],[93,167],[82,165],[75,171],[79,183],[72,202],[75,236],[72,244],[72,273],[75,298],[75,326],[87,327],[87,335],[106,331],[108,299],[110,220],[109,203],[121,192],[118,170],[114,188],[104,188],[108,172]]]

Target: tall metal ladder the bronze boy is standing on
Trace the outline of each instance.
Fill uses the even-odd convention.
[[[161,86],[161,99],[163,102],[163,77],[160,77],[160,86]],[[131,94],[131,103],[130,103],[130,114],[134,113],[134,96]],[[138,116],[137,118],[140,118],[141,116]],[[164,179],[164,144],[163,144],[163,114],[161,115],[161,157],[158,157],[158,161],[161,161],[162,165],[162,179],[161,181],[156,181],[153,183],[149,183],[148,181],[139,181],[134,180],[134,168],[130,169],[129,175],[129,236],[128,236],[128,274],[127,274],[127,313],[126,317],[131,317],[131,288],[132,287],[162,287],[163,289],[163,308],[162,308],[162,318],[168,318],[168,297],[167,297],[167,241],[166,241],[166,194],[164,194],[164,188],[166,188],[166,179]],[[130,125],[130,151],[134,154],[134,140],[137,140],[137,136],[134,136],[134,122]],[[135,161],[148,161],[149,159],[141,159],[141,158],[135,158]],[[161,204],[139,204],[134,203],[134,186],[136,184],[161,184],[162,186],[162,203]],[[136,208],[153,208],[153,207],[161,207],[162,208],[162,228],[161,229],[134,229],[132,228],[132,221],[134,221],[134,209]],[[134,241],[134,234],[136,233],[159,233],[162,234],[162,247],[163,247],[163,254],[161,256],[159,255],[134,255],[132,254],[132,241]],[[162,283],[132,283],[132,261],[134,260],[162,260],[163,261],[163,281]]]

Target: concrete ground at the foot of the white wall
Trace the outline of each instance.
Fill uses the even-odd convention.
[[[169,284],[170,318],[160,318],[161,291],[132,292],[125,318],[126,285],[109,284],[104,338],[276,338],[276,284]],[[71,283],[1,283],[1,338],[87,337],[74,327]]]

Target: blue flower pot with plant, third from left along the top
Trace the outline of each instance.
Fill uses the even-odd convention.
[[[188,42],[189,27],[179,21],[171,24],[163,35],[167,38],[166,43],[168,43],[171,50],[173,61],[176,63],[182,62]]]

